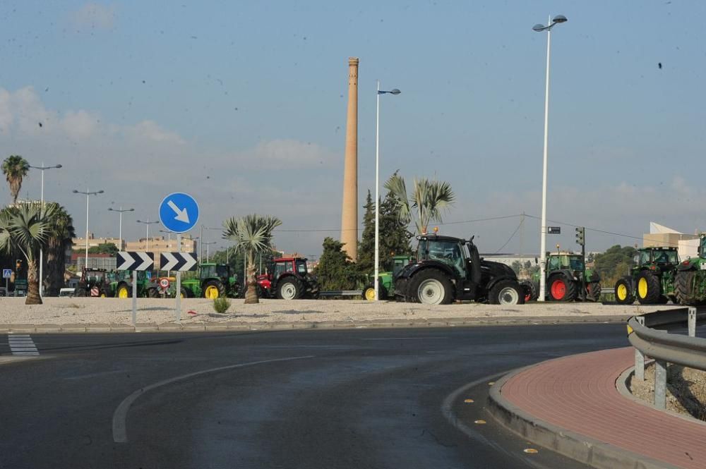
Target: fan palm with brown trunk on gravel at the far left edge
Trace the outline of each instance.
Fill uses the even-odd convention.
[[[27,260],[28,292],[25,305],[41,305],[40,282],[37,276],[37,257],[40,248],[47,245],[49,219],[54,216],[54,205],[44,208],[36,204],[8,207],[0,213],[0,250],[22,252]]]

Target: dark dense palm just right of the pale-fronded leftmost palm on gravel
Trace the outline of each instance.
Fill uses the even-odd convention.
[[[72,240],[76,236],[73,230],[73,219],[64,207],[56,203],[54,216],[49,219],[49,240],[47,241],[47,269],[44,285],[47,286],[49,296],[59,295],[61,286],[64,285],[64,272],[66,266],[66,250],[71,248]]]

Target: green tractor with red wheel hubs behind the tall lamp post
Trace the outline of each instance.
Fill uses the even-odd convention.
[[[588,300],[601,298],[601,278],[592,269],[586,268],[582,254],[570,252],[546,253],[546,299],[550,301]],[[525,300],[539,298],[539,276],[532,274],[532,280],[525,280]]]

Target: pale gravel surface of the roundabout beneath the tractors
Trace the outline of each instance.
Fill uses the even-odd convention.
[[[369,321],[376,319],[445,319],[463,317],[586,317],[590,315],[625,316],[664,310],[671,306],[601,305],[596,303],[530,303],[517,306],[455,303],[421,305],[419,303],[379,304],[364,300],[260,300],[245,305],[231,300],[229,310],[215,314],[213,301],[188,298],[181,300],[182,322],[328,322]],[[174,299],[138,298],[138,323],[174,321]],[[190,314],[189,311],[195,313]],[[25,298],[0,298],[0,324],[128,324],[132,318],[132,300],[120,298],[44,298],[43,305],[25,305]]]

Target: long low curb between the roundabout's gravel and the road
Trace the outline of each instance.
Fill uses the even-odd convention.
[[[155,322],[132,324],[0,324],[0,334],[117,334],[128,332],[292,331],[297,329],[396,329],[415,327],[534,326],[547,324],[623,324],[623,316],[451,317],[323,322]]]

